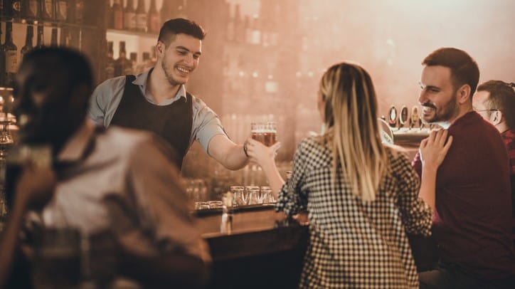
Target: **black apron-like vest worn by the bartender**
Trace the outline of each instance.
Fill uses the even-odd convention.
[[[139,85],[132,84],[134,79],[134,75],[126,76],[122,100],[110,125],[147,130],[159,135],[174,148],[172,161],[181,169],[193,124],[191,95],[186,93],[186,100],[181,98],[171,105],[154,105],[145,99]]]

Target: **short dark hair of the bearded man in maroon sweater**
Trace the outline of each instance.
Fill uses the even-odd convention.
[[[424,58],[423,65],[444,66],[451,70],[452,86],[457,90],[462,85],[470,86],[470,98],[479,82],[479,68],[474,58],[457,48],[439,48]]]

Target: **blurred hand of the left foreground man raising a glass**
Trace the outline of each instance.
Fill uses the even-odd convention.
[[[52,198],[55,185],[55,173],[51,168],[26,163],[16,183],[14,203],[30,209],[42,209]]]

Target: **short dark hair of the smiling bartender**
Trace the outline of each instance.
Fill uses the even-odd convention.
[[[206,31],[198,25],[195,21],[184,18],[170,19],[166,21],[159,31],[158,41],[164,43],[164,46],[168,46],[177,34],[186,34],[193,36],[197,39],[203,40],[206,37]]]

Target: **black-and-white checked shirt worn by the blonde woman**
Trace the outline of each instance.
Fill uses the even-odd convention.
[[[309,211],[309,245],[300,288],[418,288],[406,232],[428,236],[430,208],[418,198],[418,175],[388,149],[389,167],[375,201],[361,201],[341,177],[331,182],[331,148],[317,137],[300,142],[292,177],[276,209]]]

